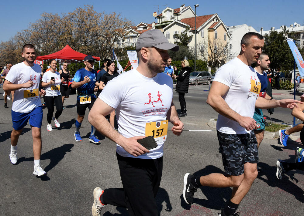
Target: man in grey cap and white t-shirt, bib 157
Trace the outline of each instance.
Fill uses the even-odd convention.
[[[106,204],[128,208],[130,215],[158,215],[154,198],[161,182],[168,120],[174,124],[171,130],[175,135],[180,135],[184,128],[172,100],[172,79],[162,73],[170,57],[169,49],[178,51],[179,47],[169,43],[160,30],[141,34],[136,42],[139,66],[109,81],[89,113],[89,122],[117,143],[123,184],[123,188],[95,188],[93,216],[100,215]],[[161,95],[161,100],[148,103],[157,95]],[[118,132],[105,118],[114,109]],[[137,142],[146,136],[152,136],[148,138],[155,144],[150,151]]]

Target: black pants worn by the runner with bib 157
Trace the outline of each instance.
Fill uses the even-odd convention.
[[[123,188],[105,189],[103,204],[128,208],[130,216],[158,216],[155,196],[161,183],[163,157],[140,159],[116,153]]]

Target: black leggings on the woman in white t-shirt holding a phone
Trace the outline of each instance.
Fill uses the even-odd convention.
[[[54,113],[54,104],[56,106],[55,119],[58,119],[62,113],[62,100],[61,95],[58,96],[45,96],[45,105],[47,106],[47,123],[52,122]]]

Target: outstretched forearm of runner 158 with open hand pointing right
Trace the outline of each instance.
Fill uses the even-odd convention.
[[[258,97],[257,101],[255,102],[255,107],[259,109],[269,109],[275,107],[293,109],[294,107],[298,107],[297,103],[303,103],[303,102],[293,99],[266,100],[265,98]]]

